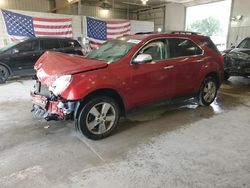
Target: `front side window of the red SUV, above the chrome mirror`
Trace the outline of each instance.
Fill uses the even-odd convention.
[[[149,54],[153,60],[166,59],[166,43],[164,40],[156,40],[144,46],[139,54]]]

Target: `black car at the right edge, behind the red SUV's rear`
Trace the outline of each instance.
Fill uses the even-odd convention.
[[[250,76],[250,37],[236,48],[225,50],[224,79],[230,76]]]

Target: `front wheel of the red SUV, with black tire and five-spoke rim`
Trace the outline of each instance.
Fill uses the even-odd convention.
[[[79,109],[76,130],[92,140],[109,136],[117,127],[120,108],[110,97],[96,97]]]

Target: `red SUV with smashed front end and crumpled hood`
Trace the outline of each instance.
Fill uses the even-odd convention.
[[[35,70],[34,113],[74,120],[79,132],[97,140],[139,105],[179,96],[210,105],[223,79],[223,58],[209,37],[139,34],[108,41],[86,57],[46,52]]]

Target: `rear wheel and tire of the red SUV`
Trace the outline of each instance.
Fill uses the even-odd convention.
[[[206,77],[202,82],[198,94],[199,105],[209,106],[211,103],[213,103],[217,95],[217,90],[218,90],[218,85],[216,79],[212,76]]]

